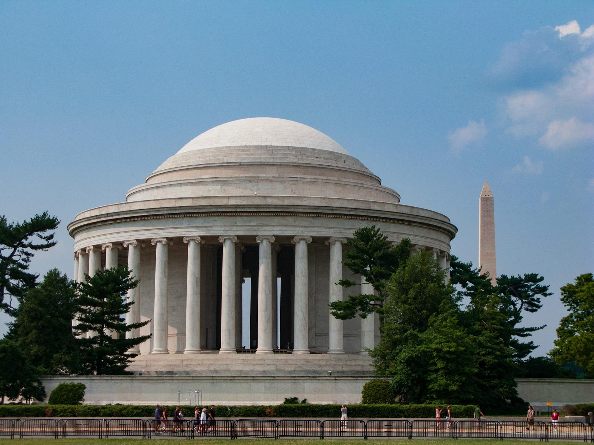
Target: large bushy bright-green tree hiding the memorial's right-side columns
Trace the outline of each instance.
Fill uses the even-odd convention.
[[[369,354],[405,403],[466,402],[476,395],[473,342],[459,323],[454,288],[431,252],[403,263],[387,286],[380,344]]]

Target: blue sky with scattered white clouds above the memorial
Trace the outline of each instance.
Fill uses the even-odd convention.
[[[594,269],[593,25],[586,1],[3,1],[0,214],[58,215],[31,268],[71,274],[78,212],[220,123],[296,120],[450,217],[475,263],[488,179],[498,272],[555,292],[526,317],[542,355],[558,288]]]

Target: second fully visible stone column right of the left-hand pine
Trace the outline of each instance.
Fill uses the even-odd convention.
[[[185,237],[188,244],[186,279],[186,345],[184,354],[200,354],[200,253],[204,240]]]

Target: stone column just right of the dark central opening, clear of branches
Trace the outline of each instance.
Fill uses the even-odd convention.
[[[309,354],[309,291],[307,244],[309,236],[296,236],[295,243],[295,322],[293,323],[293,354]]]

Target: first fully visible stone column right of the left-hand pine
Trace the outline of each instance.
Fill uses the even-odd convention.
[[[169,305],[169,244],[166,238],[150,240],[157,246],[154,260],[154,315],[153,315],[153,351],[151,354],[169,354],[168,305]]]

